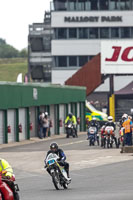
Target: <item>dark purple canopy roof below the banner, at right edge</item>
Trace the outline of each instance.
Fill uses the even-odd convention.
[[[133,94],[133,81],[130,82],[126,87],[115,92],[116,95],[127,95]]]

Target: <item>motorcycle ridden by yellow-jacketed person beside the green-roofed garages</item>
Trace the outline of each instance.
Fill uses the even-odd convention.
[[[74,128],[74,124],[71,121],[68,121],[67,124],[65,125],[66,127],[66,138],[69,138],[70,136],[72,136],[73,138],[76,137],[76,132],[75,132],[75,128]]]

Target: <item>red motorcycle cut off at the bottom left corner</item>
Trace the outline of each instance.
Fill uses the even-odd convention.
[[[19,187],[18,184],[14,184],[15,175],[11,179],[7,179],[2,172],[0,173],[0,200],[19,200]]]

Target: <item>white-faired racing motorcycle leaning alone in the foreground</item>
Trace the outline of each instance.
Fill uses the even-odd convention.
[[[46,168],[52,177],[55,188],[57,190],[61,187],[67,189],[71,181],[68,179],[64,166],[60,166],[58,159],[56,154],[50,153],[46,158]]]

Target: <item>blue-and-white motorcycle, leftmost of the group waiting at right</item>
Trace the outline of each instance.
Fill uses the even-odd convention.
[[[89,127],[88,129],[88,140],[89,140],[89,146],[94,146],[95,141],[97,140],[97,129],[94,126]]]

